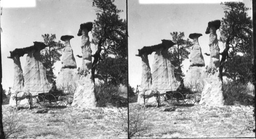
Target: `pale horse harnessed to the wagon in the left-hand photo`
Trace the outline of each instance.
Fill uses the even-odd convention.
[[[18,101],[27,99],[29,101],[29,109],[31,109],[32,104],[32,95],[28,91],[17,91],[15,92],[14,96],[12,97],[13,100],[16,100],[16,111],[19,110],[18,108]]]

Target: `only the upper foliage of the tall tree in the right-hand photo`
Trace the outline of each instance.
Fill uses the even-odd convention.
[[[232,55],[237,52],[251,55],[252,21],[247,14],[249,8],[246,8],[242,2],[225,2],[221,5],[225,16],[221,20],[220,41],[229,44]],[[227,42],[228,37],[230,39]]]

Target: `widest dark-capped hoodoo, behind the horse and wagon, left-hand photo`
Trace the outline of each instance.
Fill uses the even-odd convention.
[[[34,42],[33,46],[23,48],[28,53],[24,70],[24,90],[37,95],[50,90],[46,77],[46,68],[42,65],[40,50],[47,47],[42,42]]]

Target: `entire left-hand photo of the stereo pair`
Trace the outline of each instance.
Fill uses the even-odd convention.
[[[1,1],[5,138],[128,138],[126,1],[15,1]]]

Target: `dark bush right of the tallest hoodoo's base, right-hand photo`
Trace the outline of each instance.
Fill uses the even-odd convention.
[[[253,96],[248,94],[247,86],[239,81],[226,81],[223,84],[225,105],[252,105]]]

